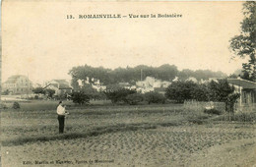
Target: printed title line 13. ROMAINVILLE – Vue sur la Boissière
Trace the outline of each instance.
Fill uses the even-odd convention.
[[[73,15],[67,15],[67,19],[137,19],[137,18],[182,18],[181,14],[86,14],[78,15],[77,17]]]

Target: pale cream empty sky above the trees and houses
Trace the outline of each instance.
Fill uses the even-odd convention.
[[[2,8],[2,82],[12,75],[29,76],[33,83],[69,80],[69,70],[85,64],[111,69],[173,64],[178,70],[231,74],[246,61],[230,60],[228,49],[228,40],[240,31],[242,2],[7,0]],[[127,17],[78,19],[90,14]]]

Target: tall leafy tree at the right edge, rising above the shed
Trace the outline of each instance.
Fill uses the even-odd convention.
[[[248,57],[248,63],[242,65],[245,80],[256,81],[256,2],[247,1],[243,4],[244,19],[241,22],[241,32],[232,37],[230,49],[237,56]]]

